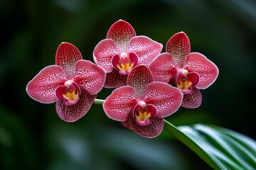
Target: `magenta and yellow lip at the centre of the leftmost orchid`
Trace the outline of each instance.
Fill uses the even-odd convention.
[[[80,87],[72,80],[65,81],[64,85],[58,86],[55,90],[58,99],[62,100],[65,106],[72,106],[78,103],[80,98]]]

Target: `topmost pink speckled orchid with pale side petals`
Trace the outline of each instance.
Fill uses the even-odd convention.
[[[119,20],[93,51],[93,59],[107,71],[106,88],[127,84],[127,77],[137,64],[149,64],[160,54],[163,45],[146,36],[137,36],[134,28]]]

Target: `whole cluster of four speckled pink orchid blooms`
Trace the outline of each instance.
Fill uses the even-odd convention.
[[[176,33],[163,45],[119,20],[92,52],[92,63],[82,60],[77,47],[63,42],[57,49],[55,64],[45,67],[28,82],[26,91],[41,103],[56,102],[58,116],[67,122],[82,118],[97,94],[116,88],[103,109],[142,137],[156,137],[164,118],[180,106],[197,108],[206,89],[218,77],[218,67],[204,55],[191,52],[185,33]]]

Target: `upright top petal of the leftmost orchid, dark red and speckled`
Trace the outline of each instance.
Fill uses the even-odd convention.
[[[75,62],[82,60],[82,55],[75,45],[62,42],[57,49],[55,63],[63,68],[66,77],[75,76]]]

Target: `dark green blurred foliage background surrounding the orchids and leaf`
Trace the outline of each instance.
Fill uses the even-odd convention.
[[[209,169],[166,132],[142,139],[99,106],[65,123],[54,104],[29,98],[26,84],[55,63],[60,42],[73,43],[92,61],[95,45],[119,19],[164,48],[184,31],[191,51],[215,62],[220,74],[201,91],[200,108],[180,108],[168,120],[211,123],[255,139],[255,8],[253,0],[1,0],[0,169]],[[98,98],[111,91],[103,89]]]

